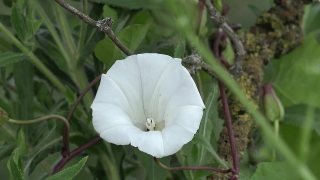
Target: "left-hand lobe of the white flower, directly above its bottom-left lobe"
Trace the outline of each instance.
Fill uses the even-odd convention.
[[[99,134],[113,126],[132,125],[130,117],[118,106],[94,103],[91,108],[93,127]]]

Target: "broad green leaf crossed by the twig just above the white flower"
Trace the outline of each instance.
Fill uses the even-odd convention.
[[[134,52],[146,36],[148,28],[149,24],[131,25],[117,33],[117,37],[128,49]],[[110,68],[116,60],[126,57],[109,38],[100,41],[94,48],[94,53],[100,61],[106,64],[107,68]]]

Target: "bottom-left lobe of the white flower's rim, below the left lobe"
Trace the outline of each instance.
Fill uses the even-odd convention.
[[[116,145],[128,145],[130,137],[140,132],[142,131],[133,125],[117,125],[103,131],[100,137]]]

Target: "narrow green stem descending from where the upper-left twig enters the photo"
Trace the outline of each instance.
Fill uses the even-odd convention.
[[[69,54],[71,54],[71,57],[74,57],[75,45],[74,45],[74,41],[72,39],[72,35],[71,35],[70,29],[69,29],[69,25],[68,25],[66,18],[65,18],[65,14],[62,11],[62,8],[60,7],[60,5],[58,3],[53,3],[53,7],[56,11],[56,17],[57,17],[57,20],[60,25],[61,34],[64,39],[64,42],[66,43]],[[71,59],[73,59],[73,58],[71,58]]]

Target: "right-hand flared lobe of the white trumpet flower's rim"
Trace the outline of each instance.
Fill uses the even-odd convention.
[[[199,129],[203,109],[198,106],[181,106],[175,108],[166,117],[165,127],[177,124],[195,134]]]

